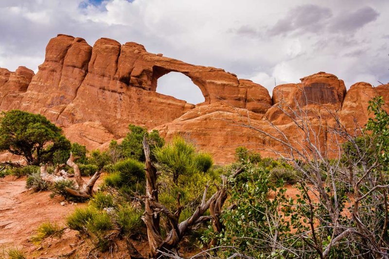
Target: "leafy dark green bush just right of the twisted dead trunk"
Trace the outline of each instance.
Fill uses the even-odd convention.
[[[235,209],[224,211],[224,231],[214,233],[210,226],[203,241],[217,239],[221,247],[226,247],[227,257],[238,251],[253,258],[273,258],[274,233],[278,241],[288,238],[290,232],[287,214],[280,213],[288,205],[286,190],[281,186],[270,182],[268,170],[248,165],[239,178],[230,182],[229,203]]]

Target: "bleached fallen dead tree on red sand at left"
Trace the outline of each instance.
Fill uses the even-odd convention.
[[[74,162],[75,158],[73,154],[70,154],[69,160],[66,162],[71,168],[73,168],[74,174],[69,174],[65,171],[60,172],[59,169],[61,167],[64,167],[64,164],[57,165],[54,170],[54,174],[49,174],[47,172],[47,164],[40,167],[40,177],[49,182],[49,183],[55,183],[61,180],[66,180],[72,178],[74,179],[74,182],[76,183],[75,189],[71,189],[69,187],[65,187],[65,191],[67,191],[69,194],[77,197],[82,198],[89,198],[93,195],[93,186],[96,183],[97,179],[100,177],[102,170],[97,171],[94,173],[94,175],[88,180],[88,182],[84,181],[83,178],[81,178],[81,172],[78,168],[78,165]]]

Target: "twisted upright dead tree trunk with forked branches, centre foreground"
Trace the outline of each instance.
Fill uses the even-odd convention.
[[[182,238],[190,229],[199,224],[212,220],[212,225],[217,231],[221,231],[219,215],[221,208],[227,198],[227,178],[223,178],[223,184],[217,188],[217,191],[207,199],[209,185],[205,186],[201,204],[197,207],[192,216],[182,222],[178,222],[182,206],[180,205],[180,196],[177,196],[177,210],[170,211],[158,201],[158,173],[156,167],[150,160],[150,147],[146,137],[143,138],[143,148],[145,154],[145,173],[146,173],[146,195],[145,212],[142,220],[147,227],[147,236],[150,246],[150,257],[158,258],[161,251],[174,250]],[[204,213],[211,209],[212,216],[204,216]],[[160,232],[160,215],[166,216],[170,232],[163,239]]]

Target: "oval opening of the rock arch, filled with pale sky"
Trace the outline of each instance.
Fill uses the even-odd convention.
[[[200,88],[186,75],[179,72],[168,72],[158,79],[156,92],[172,96],[188,103],[198,104],[205,101]]]

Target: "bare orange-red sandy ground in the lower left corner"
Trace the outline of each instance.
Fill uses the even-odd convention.
[[[101,181],[102,178],[95,186]],[[77,207],[87,206],[87,203],[62,206],[62,197],[50,198],[50,191],[34,193],[26,190],[25,184],[25,177],[0,178],[0,258],[10,248],[23,251],[28,259],[129,258],[124,240],[118,240],[113,251],[102,254],[93,250],[91,240],[68,228],[60,238],[49,237],[41,243],[30,242],[35,229],[43,222],[50,221],[65,227],[66,216]],[[147,242],[132,243],[147,257]]]

